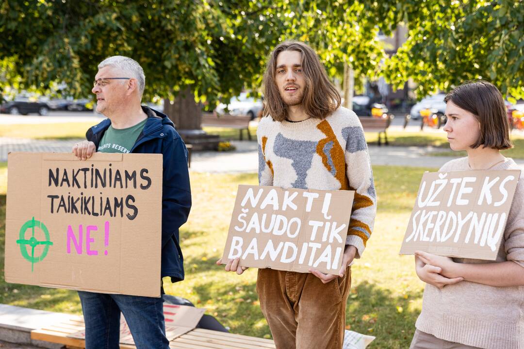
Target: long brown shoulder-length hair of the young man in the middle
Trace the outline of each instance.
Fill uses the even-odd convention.
[[[307,44],[290,40],[280,43],[269,57],[264,73],[264,110],[262,116],[270,115],[273,120],[282,121],[286,119],[288,114],[287,105],[280,97],[275,82],[277,57],[282,51],[298,51],[301,54],[305,81],[302,107],[305,114],[312,118],[324,119],[340,107],[340,94],[328,80],[318,55]]]

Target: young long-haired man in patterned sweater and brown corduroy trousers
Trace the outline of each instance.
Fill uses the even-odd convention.
[[[259,269],[260,307],[277,348],[341,348],[350,264],[362,256],[376,213],[362,125],[340,106],[318,55],[303,42],[283,42],[271,53],[264,97],[257,130],[259,184],[356,194],[339,275]],[[236,259],[225,269],[242,274],[245,267]]]

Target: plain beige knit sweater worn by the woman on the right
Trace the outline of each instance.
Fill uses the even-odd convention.
[[[519,169],[506,159],[491,170]],[[440,172],[471,170],[467,157],[447,162]],[[524,267],[524,176],[520,177],[497,260]],[[454,258],[458,263],[492,261]],[[524,349],[524,286],[493,287],[463,281],[442,289],[427,284],[418,330],[440,339],[489,349]]]

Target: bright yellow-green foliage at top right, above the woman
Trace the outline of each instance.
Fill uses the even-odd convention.
[[[419,96],[449,91],[483,78],[503,94],[524,98],[522,0],[425,0],[381,2],[389,25],[406,21],[408,40],[386,62],[385,76],[401,86],[408,78]]]

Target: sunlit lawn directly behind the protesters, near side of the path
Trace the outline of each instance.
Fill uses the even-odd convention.
[[[374,166],[378,216],[366,252],[353,267],[346,323],[352,330],[377,336],[369,348],[407,348],[421,308],[423,284],[412,256],[399,256],[421,175],[429,168]],[[434,170],[434,169],[433,169]],[[0,163],[0,268],[4,267],[6,164]],[[238,184],[256,184],[256,174],[191,173],[193,207],[181,229],[186,278],[170,284],[168,294],[188,298],[208,309],[234,333],[270,337],[255,291],[256,269],[242,276],[223,271],[221,256]],[[0,276],[0,303],[81,313],[76,292],[6,284]]]

